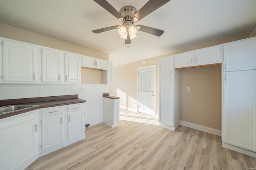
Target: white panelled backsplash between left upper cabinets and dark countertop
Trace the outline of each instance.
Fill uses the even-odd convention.
[[[0,84],[0,100],[78,94],[78,84]]]

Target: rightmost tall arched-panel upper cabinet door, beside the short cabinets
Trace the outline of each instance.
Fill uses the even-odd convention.
[[[80,56],[65,53],[65,82],[80,83]]]

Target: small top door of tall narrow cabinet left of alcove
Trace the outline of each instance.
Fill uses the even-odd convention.
[[[173,72],[173,56],[159,59],[159,76],[170,76]]]

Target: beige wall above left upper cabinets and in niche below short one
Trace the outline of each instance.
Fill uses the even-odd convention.
[[[90,57],[108,60],[107,53],[96,51],[94,49],[89,49],[80,45],[68,43],[66,41],[27,31],[25,29],[21,29],[18,27],[13,27],[11,25],[7,25],[4,23],[0,23],[0,37],[5,37],[17,41],[23,41],[26,43],[42,45],[44,47],[50,47],[54,49],[69,51],[72,53],[78,53],[81,55],[87,55]],[[102,76],[98,76],[99,74],[101,75],[101,72],[101,70],[88,71],[88,69],[82,68],[82,84],[102,84]],[[89,78],[88,75],[90,75]]]

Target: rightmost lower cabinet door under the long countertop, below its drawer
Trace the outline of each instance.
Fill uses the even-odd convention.
[[[68,113],[68,141],[84,135],[84,112]]]

